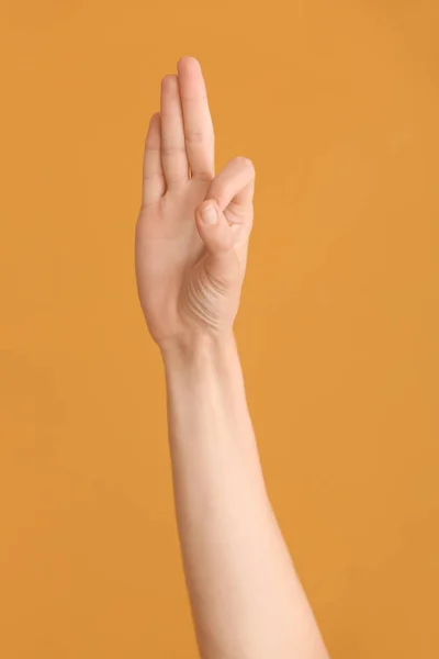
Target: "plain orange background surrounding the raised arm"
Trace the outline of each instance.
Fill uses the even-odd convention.
[[[196,657],[133,266],[182,55],[257,170],[236,333],[328,647],[439,656],[438,8],[3,0],[1,657]]]

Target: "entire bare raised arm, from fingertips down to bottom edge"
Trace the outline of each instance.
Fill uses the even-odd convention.
[[[234,335],[255,167],[215,174],[200,63],[161,80],[145,143],[137,289],[164,361],[177,524],[202,659],[328,659],[263,481]],[[201,211],[213,206],[216,222]]]

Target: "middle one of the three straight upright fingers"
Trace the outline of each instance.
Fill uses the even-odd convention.
[[[183,115],[178,76],[161,80],[161,166],[168,188],[181,187],[189,180],[189,163],[184,144]]]

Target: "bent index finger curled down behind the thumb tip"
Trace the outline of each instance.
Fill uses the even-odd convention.
[[[251,160],[237,156],[213,179],[205,199],[216,199],[222,211],[233,204],[234,213],[246,213],[254,200],[255,176]]]

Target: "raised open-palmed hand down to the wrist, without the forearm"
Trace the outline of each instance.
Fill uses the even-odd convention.
[[[138,295],[160,348],[232,333],[254,219],[252,163],[233,158],[215,177],[201,66],[193,57],[177,66],[150,119],[135,232]],[[203,210],[216,222],[204,223]]]

